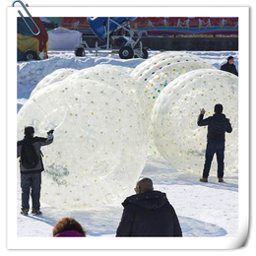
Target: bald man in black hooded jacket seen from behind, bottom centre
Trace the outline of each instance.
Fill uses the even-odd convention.
[[[164,193],[154,191],[150,178],[140,180],[135,191],[122,203],[116,236],[182,236],[173,207]]]

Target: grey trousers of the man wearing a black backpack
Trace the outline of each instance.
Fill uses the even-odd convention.
[[[30,194],[32,195],[32,208],[40,209],[41,172],[34,174],[21,174],[22,209],[30,209]]]

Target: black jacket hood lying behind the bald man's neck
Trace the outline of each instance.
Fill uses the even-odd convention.
[[[129,204],[135,204],[149,210],[160,209],[167,201],[166,194],[160,191],[148,191],[127,197],[122,203],[125,208]]]

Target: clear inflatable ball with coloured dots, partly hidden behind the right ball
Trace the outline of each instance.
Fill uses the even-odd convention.
[[[172,51],[160,53],[141,63],[131,76],[144,86],[140,102],[150,116],[160,92],[171,81],[191,70],[210,68],[215,69],[213,65],[193,54]]]

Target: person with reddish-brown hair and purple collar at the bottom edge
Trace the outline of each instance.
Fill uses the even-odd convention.
[[[86,231],[74,218],[62,218],[52,230],[53,237],[86,237]]]

